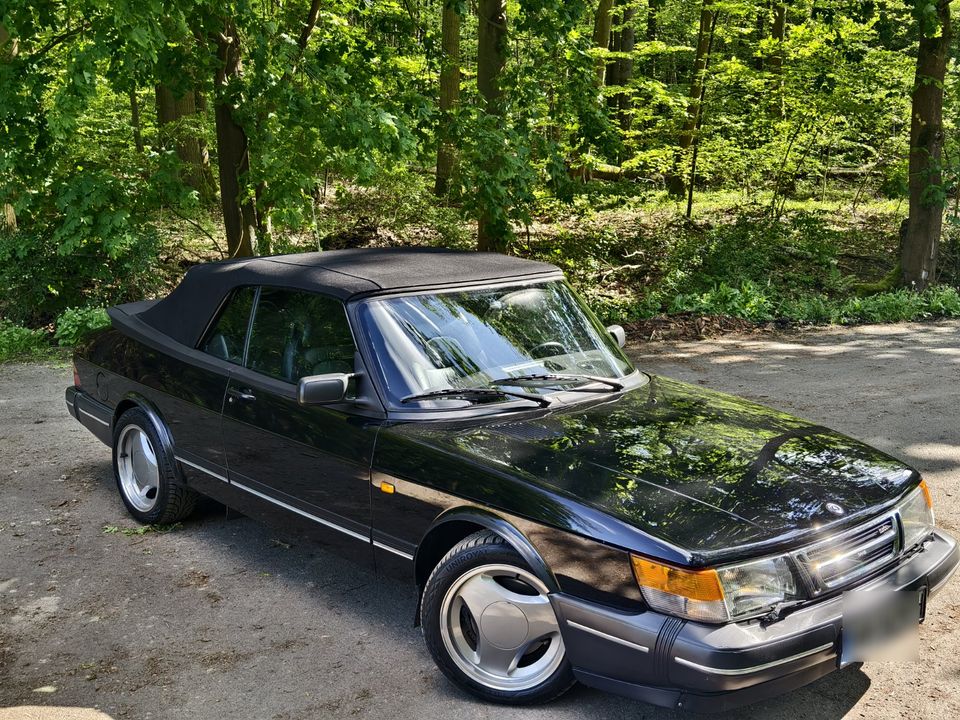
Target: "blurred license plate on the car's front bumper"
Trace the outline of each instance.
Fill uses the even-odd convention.
[[[926,588],[845,592],[841,667],[869,660],[915,660],[925,610]]]

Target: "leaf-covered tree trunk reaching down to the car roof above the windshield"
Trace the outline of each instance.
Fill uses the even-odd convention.
[[[500,74],[507,59],[506,0],[478,0],[477,89],[483,96],[486,112],[500,115]],[[491,174],[498,163],[497,150],[489,158]],[[491,208],[483,208],[477,220],[477,249],[503,251],[510,237],[510,227],[503,214],[494,217]]]

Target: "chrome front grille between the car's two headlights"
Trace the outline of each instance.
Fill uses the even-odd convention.
[[[900,524],[894,513],[802,550],[797,559],[819,591],[836,590],[895,560],[900,550]]]

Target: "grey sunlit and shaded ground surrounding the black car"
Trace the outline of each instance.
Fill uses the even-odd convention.
[[[960,322],[631,352],[913,463],[939,523],[960,530]],[[66,414],[69,382],[67,367],[0,366],[0,708],[48,706],[0,719],[690,717],[586,688],[543,708],[484,705],[434,669],[412,585],[216,506],[137,533],[109,451]],[[730,717],[960,717],[958,605],[960,580],[931,602],[923,662],[847,668]]]

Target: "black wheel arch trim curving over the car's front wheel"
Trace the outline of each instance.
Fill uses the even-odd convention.
[[[502,537],[526,561],[547,588],[559,590],[556,577],[546,561],[537,552],[527,537],[509,520],[496,513],[478,507],[451,508],[439,515],[430,529],[424,533],[414,555],[414,574],[420,594],[423,586],[450,548],[464,538],[482,530],[489,530]],[[418,603],[419,604],[419,603]]]

